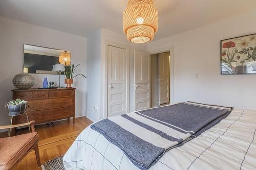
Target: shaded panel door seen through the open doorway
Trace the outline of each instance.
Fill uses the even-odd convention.
[[[158,82],[159,82],[159,105],[169,103],[169,55],[160,53],[158,55]]]

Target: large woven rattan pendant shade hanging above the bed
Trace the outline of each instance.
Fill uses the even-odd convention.
[[[123,12],[123,32],[134,43],[153,40],[158,30],[158,12],[153,0],[129,0]]]

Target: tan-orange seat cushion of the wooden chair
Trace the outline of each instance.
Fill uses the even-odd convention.
[[[9,169],[20,161],[38,140],[36,132],[0,138],[0,169]]]

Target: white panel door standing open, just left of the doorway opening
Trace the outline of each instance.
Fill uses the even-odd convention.
[[[150,54],[134,51],[134,110],[150,108]]]

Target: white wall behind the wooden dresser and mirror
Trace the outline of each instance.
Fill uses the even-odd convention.
[[[71,51],[71,62],[81,64],[77,72],[87,76],[86,38],[0,17],[0,125],[9,124],[4,106],[12,99],[12,78],[23,70],[24,43]],[[57,75],[31,75],[36,79],[33,88],[41,87],[44,77],[48,78],[48,82],[54,81],[56,85],[59,82]],[[65,86],[63,79],[62,76],[61,86]],[[77,88],[76,116],[85,115],[86,112],[86,82],[81,77],[74,79],[73,86]]]

